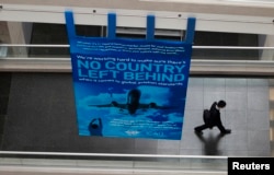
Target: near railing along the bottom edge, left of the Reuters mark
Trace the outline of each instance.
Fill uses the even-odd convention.
[[[1,172],[89,174],[226,174],[227,156],[0,152]]]

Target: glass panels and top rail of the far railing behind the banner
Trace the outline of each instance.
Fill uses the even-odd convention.
[[[69,45],[0,45],[0,58],[69,58]],[[274,47],[193,46],[193,60],[272,61]]]

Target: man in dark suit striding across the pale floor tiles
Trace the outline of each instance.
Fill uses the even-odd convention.
[[[197,126],[194,128],[196,133],[203,133],[202,130],[207,129],[207,128],[213,128],[213,127],[218,127],[221,133],[231,133],[230,129],[226,129],[220,119],[220,109],[226,107],[227,103],[225,101],[219,101],[214,102],[209,112],[210,112],[210,117],[208,121],[206,121],[204,125]]]

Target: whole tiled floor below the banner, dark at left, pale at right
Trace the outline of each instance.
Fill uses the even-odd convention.
[[[14,73],[2,150],[181,155],[269,156],[269,80],[191,78],[180,141],[79,137],[69,73]],[[226,100],[222,122],[197,137],[202,112]]]

